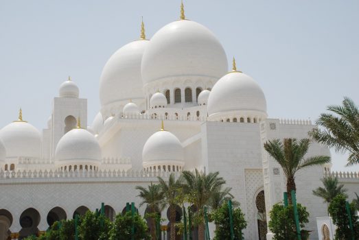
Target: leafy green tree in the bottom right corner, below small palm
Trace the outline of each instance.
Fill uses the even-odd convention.
[[[345,240],[351,239],[351,230],[349,229],[349,218],[347,214],[347,209],[345,207],[345,202],[347,201],[347,197],[343,194],[339,194],[332,202],[329,204],[329,214],[332,216],[333,223],[336,225],[336,240]],[[351,222],[354,228],[354,239],[359,239],[359,221],[358,216],[355,215],[356,206],[355,203],[352,202],[349,204],[350,212],[351,212]]]

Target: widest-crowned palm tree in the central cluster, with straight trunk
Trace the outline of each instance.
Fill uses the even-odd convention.
[[[219,173],[200,173],[197,169],[193,173],[191,171],[183,171],[182,176],[185,180],[183,191],[187,195],[190,203],[194,204],[197,211],[199,221],[198,225],[198,239],[205,238],[205,224],[204,224],[204,208],[209,204],[211,197],[218,192],[218,189],[226,182],[223,178],[218,176]]]

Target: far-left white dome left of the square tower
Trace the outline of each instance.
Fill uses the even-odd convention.
[[[0,130],[7,158],[40,158],[41,135],[30,123],[14,121]]]

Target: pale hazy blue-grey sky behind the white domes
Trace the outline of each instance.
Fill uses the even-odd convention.
[[[102,67],[119,47],[148,38],[179,18],[181,1],[0,0],[0,128],[23,118],[43,129],[58,87],[71,75],[100,110]],[[266,95],[271,118],[315,120],[343,96],[359,104],[359,1],[184,1],[188,19],[205,25],[229,61]],[[332,155],[334,169],[345,156]]]

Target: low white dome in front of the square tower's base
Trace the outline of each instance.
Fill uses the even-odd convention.
[[[74,128],[58,141],[55,160],[58,165],[67,163],[100,164],[100,145],[95,136],[89,131],[82,128]]]

